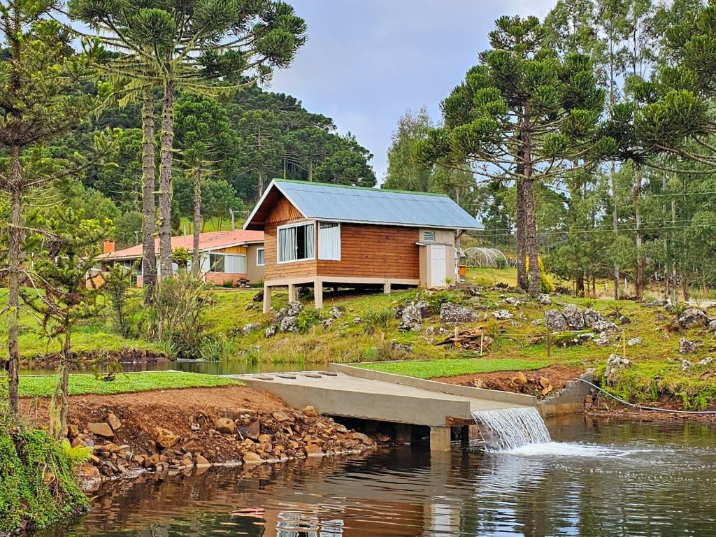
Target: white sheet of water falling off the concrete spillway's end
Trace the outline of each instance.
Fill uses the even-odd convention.
[[[473,418],[490,451],[512,450],[552,440],[535,407],[481,410],[473,412]]]

